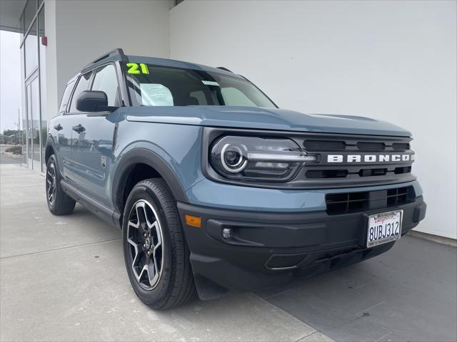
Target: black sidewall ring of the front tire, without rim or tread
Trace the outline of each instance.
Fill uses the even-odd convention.
[[[154,289],[146,290],[139,282],[136,280],[134,271],[131,269],[131,255],[128,247],[130,246],[127,242],[127,224],[129,222],[129,214],[131,208],[134,204],[140,199],[148,201],[156,210],[157,215],[159,216],[159,221],[162,229],[162,239],[163,239],[163,248],[164,248],[164,259],[162,260],[162,274],[159,279],[159,284],[154,287]],[[172,246],[171,246],[171,234],[169,231],[169,222],[166,218],[166,213],[164,212],[161,200],[156,195],[156,193],[151,190],[147,185],[139,183],[131,191],[129,198],[126,201],[126,207],[124,209],[124,219],[122,222],[122,242],[124,249],[124,261],[126,264],[127,274],[131,282],[131,286],[134,288],[136,295],[140,297],[144,303],[153,305],[158,303],[161,300],[166,299],[167,293],[170,288],[171,274],[172,274]],[[130,248],[130,247],[129,247]]]

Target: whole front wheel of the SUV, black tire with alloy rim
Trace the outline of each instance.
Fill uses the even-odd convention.
[[[170,309],[195,296],[189,247],[164,180],[143,180],[134,186],[122,231],[127,274],[144,304]]]

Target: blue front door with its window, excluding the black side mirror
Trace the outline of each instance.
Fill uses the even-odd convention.
[[[89,89],[104,91],[109,106],[121,105],[119,81],[114,63],[108,63],[93,72]],[[71,103],[71,108],[76,110],[75,97]],[[116,118],[116,111],[80,113],[76,110],[75,112],[74,177],[80,190],[105,204],[109,204],[107,178],[113,160]]]

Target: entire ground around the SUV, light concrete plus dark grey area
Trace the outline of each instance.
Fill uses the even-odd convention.
[[[157,312],[131,289],[119,231],[79,205],[50,214],[37,172],[0,177],[1,341],[457,341],[456,247],[405,236],[360,264]]]

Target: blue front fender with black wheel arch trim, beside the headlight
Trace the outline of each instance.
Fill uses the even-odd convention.
[[[133,142],[132,136],[136,138]],[[113,204],[119,213],[126,180],[139,163],[154,168],[179,202],[189,202],[186,190],[204,177],[198,126],[123,121],[119,124],[116,150],[110,173]]]

